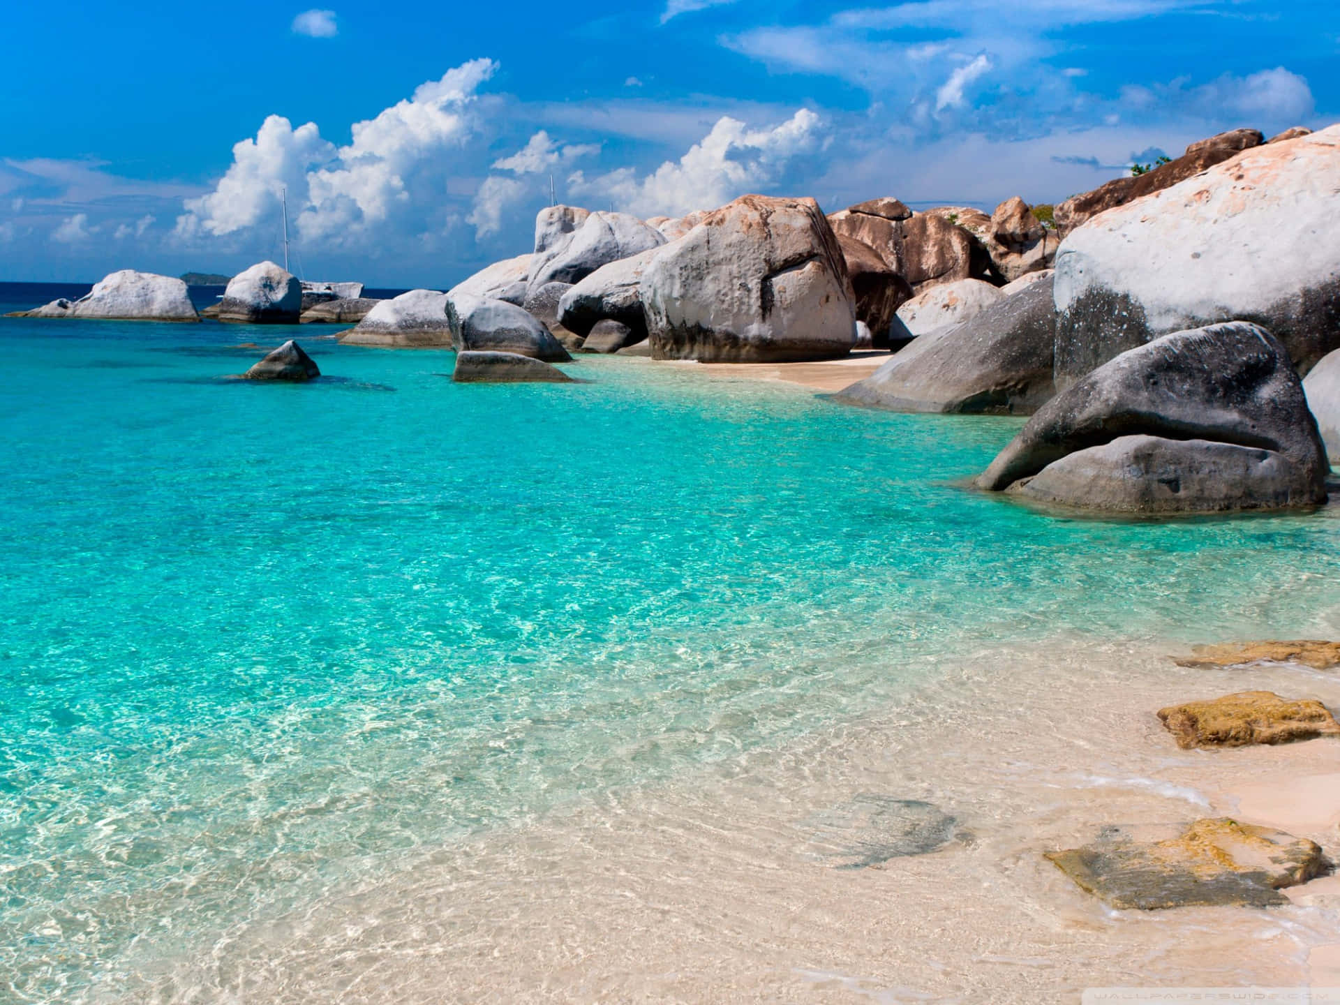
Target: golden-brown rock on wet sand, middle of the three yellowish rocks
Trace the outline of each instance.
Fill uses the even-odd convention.
[[[1285,701],[1272,691],[1240,691],[1214,701],[1159,709],[1159,721],[1183,750],[1195,746],[1288,744],[1340,734],[1320,701]]]

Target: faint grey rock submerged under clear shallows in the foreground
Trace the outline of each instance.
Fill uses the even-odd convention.
[[[953,842],[957,821],[933,803],[862,793],[803,824],[807,854],[836,868],[868,868],[890,859],[927,855]]]

